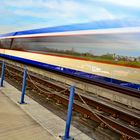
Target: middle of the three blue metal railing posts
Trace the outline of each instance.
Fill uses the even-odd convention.
[[[24,68],[24,74],[23,74],[23,82],[22,82],[22,93],[21,93],[21,100],[20,104],[24,104],[24,95],[25,95],[25,90],[26,90],[26,77],[27,77],[27,69],[26,67]]]

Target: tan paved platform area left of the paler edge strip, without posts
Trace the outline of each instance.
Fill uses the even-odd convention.
[[[0,140],[55,140],[55,138],[0,92]]]

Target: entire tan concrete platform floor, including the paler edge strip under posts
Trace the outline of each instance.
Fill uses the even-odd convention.
[[[60,140],[65,121],[25,95],[27,104],[19,104],[21,91],[4,81],[0,87],[0,140]],[[71,126],[74,140],[92,140]]]

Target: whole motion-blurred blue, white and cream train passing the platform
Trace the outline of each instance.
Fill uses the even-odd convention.
[[[114,21],[0,35],[0,57],[140,90],[140,26]]]

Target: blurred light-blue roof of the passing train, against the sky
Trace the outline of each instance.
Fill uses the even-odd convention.
[[[24,31],[11,32],[6,34],[1,34],[0,38],[14,38],[20,36],[31,36],[36,34],[47,34],[47,33],[62,33],[62,32],[73,32],[73,31],[89,31],[89,30],[108,30],[108,29],[117,29],[117,28],[127,28],[127,27],[139,27],[140,22],[132,22],[129,20],[104,20],[89,22],[83,24],[71,24],[63,25],[56,27],[40,28],[40,29],[31,29]]]

